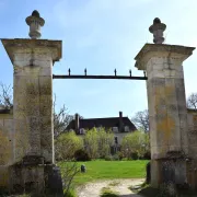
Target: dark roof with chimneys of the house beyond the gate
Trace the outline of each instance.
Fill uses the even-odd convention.
[[[67,127],[67,130],[74,130],[77,135],[84,135],[85,130],[92,128],[104,127],[105,129],[112,129],[115,134],[115,143],[120,143],[123,137],[128,132],[137,130],[136,126],[130,121],[128,117],[123,117],[123,112],[119,112],[118,117],[105,117],[105,118],[79,118],[76,114],[73,120]]]

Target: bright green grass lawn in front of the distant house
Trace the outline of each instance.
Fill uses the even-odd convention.
[[[95,160],[89,162],[78,162],[79,167],[81,164],[85,165],[86,173],[79,173],[74,178],[74,184],[81,185],[95,179],[142,178],[146,177],[146,164],[148,162],[148,160]],[[63,166],[63,163],[60,163],[59,165]]]

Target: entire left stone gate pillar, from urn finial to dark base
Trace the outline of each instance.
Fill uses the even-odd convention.
[[[61,58],[61,40],[37,39],[44,25],[37,11],[26,22],[32,39],[1,39],[14,68],[10,185],[40,192],[46,165],[54,164],[53,66]]]

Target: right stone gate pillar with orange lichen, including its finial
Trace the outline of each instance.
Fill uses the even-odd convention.
[[[165,181],[164,164],[169,162],[171,165],[172,159],[178,160],[188,153],[187,108],[182,63],[195,49],[162,44],[164,30],[165,25],[155,19],[150,27],[155,44],[146,44],[135,58],[138,70],[144,70],[148,77],[151,184],[154,187]],[[179,179],[185,182],[184,160],[179,166],[174,178],[177,181],[182,177]]]

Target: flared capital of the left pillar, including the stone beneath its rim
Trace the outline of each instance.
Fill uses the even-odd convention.
[[[42,59],[45,55],[43,58],[46,60],[46,56],[50,57],[53,63],[61,58],[61,40],[15,38],[1,39],[1,42],[13,65],[20,55],[28,60]]]

